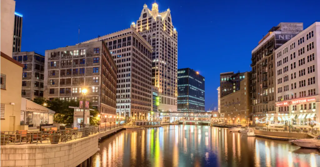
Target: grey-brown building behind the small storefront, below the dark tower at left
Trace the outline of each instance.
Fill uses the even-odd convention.
[[[12,58],[23,65],[23,98],[33,100],[44,94],[44,56],[35,52],[14,52]]]

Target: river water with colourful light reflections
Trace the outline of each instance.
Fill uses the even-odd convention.
[[[124,130],[103,140],[93,166],[319,167],[320,152],[226,128],[167,125]]]

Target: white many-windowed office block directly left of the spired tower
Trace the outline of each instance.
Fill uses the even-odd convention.
[[[104,40],[118,68],[117,114],[136,120],[149,119],[152,104],[152,47],[134,28],[94,38]]]

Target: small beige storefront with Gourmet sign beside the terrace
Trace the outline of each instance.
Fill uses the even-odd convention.
[[[28,99],[21,99],[20,125],[28,125],[28,129],[53,125],[54,111],[36,104]]]

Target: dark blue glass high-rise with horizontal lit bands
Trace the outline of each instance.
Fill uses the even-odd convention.
[[[178,69],[178,112],[205,112],[204,77],[191,68]]]

